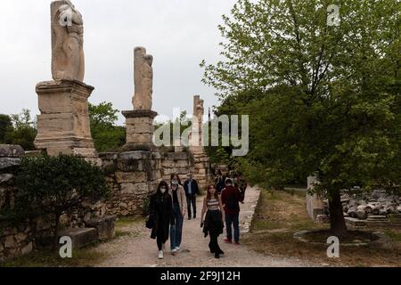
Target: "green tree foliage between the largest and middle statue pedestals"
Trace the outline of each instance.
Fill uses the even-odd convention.
[[[91,132],[96,151],[118,151],[126,143],[126,128],[116,126],[119,110],[114,110],[109,102],[99,105],[89,103]]]

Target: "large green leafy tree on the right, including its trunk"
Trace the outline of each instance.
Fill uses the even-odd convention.
[[[340,25],[328,25],[330,4]],[[225,60],[201,66],[218,112],[250,114],[241,165],[272,184],[319,171],[331,230],[347,234],[341,190],[401,184],[399,4],[239,0],[224,22]]]

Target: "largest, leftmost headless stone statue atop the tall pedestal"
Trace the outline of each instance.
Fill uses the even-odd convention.
[[[85,56],[82,15],[70,0],[53,1],[51,14],[53,79],[83,82]]]

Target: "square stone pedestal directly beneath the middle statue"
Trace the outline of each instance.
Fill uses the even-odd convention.
[[[127,143],[123,151],[155,151],[153,119],[158,113],[152,110],[125,110]]]

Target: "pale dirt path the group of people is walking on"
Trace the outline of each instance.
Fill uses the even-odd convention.
[[[257,188],[247,190],[245,203],[241,205],[241,230],[249,230],[250,220],[258,202]],[[198,198],[198,211],[201,214],[201,201]],[[219,237],[220,247],[225,256],[214,258],[209,252],[209,238],[205,239],[201,232],[200,217],[196,220],[184,220],[182,249],[176,256],[169,250],[169,240],[166,243],[165,258],[159,260],[156,241],[151,240],[150,230],[143,224],[133,224],[119,229],[133,232],[131,236],[122,236],[117,240],[94,248],[105,253],[109,258],[98,265],[101,267],[285,267],[285,266],[313,266],[305,261],[279,256],[265,256],[252,251],[246,246],[225,244],[225,234]],[[247,234],[247,233],[245,233]]]

